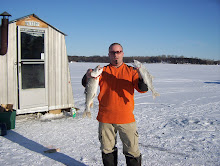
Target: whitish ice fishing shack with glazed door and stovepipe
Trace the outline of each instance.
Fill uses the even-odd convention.
[[[65,36],[35,14],[8,23],[7,51],[0,55],[1,104],[13,104],[17,114],[74,106]]]

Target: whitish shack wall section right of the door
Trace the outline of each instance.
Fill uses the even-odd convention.
[[[65,36],[48,27],[49,110],[74,106]]]

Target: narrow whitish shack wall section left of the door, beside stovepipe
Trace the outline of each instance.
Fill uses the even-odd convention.
[[[0,104],[13,104],[17,109],[17,32],[16,23],[9,24],[8,51],[0,56]]]

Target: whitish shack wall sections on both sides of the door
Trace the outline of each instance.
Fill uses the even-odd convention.
[[[74,107],[65,36],[48,27],[45,43],[46,75],[48,76],[48,109]],[[13,104],[18,108],[17,90],[17,26],[9,24],[8,52],[0,56],[0,104]]]

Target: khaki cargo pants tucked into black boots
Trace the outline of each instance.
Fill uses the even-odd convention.
[[[105,154],[112,153],[117,144],[117,132],[123,144],[123,153],[130,157],[139,157],[138,133],[136,122],[127,124],[109,124],[99,122],[99,140]]]

